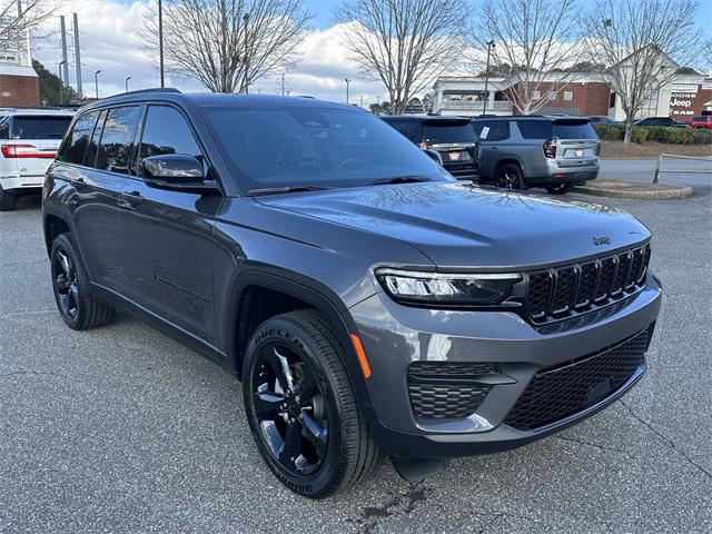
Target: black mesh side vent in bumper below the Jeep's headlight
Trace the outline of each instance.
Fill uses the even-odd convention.
[[[475,413],[492,386],[477,382],[498,373],[493,364],[414,362],[408,366],[408,395],[417,418],[462,418]]]

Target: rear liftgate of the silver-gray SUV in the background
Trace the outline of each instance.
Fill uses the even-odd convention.
[[[589,119],[556,119],[552,121],[552,129],[560,167],[583,167],[597,162],[599,136]]]

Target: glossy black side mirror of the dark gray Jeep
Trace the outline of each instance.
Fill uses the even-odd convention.
[[[162,154],[145,158],[141,169],[146,184],[158,189],[200,195],[219,190],[217,182],[206,180],[202,164],[185,154]]]

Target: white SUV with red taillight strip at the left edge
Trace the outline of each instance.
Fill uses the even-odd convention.
[[[0,108],[0,211],[21,194],[39,192],[72,110]]]

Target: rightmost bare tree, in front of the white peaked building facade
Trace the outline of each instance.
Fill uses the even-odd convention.
[[[696,9],[694,0],[597,1],[586,34],[625,113],[624,142],[631,141],[633,120],[673,81],[679,65],[694,62],[702,42]]]

